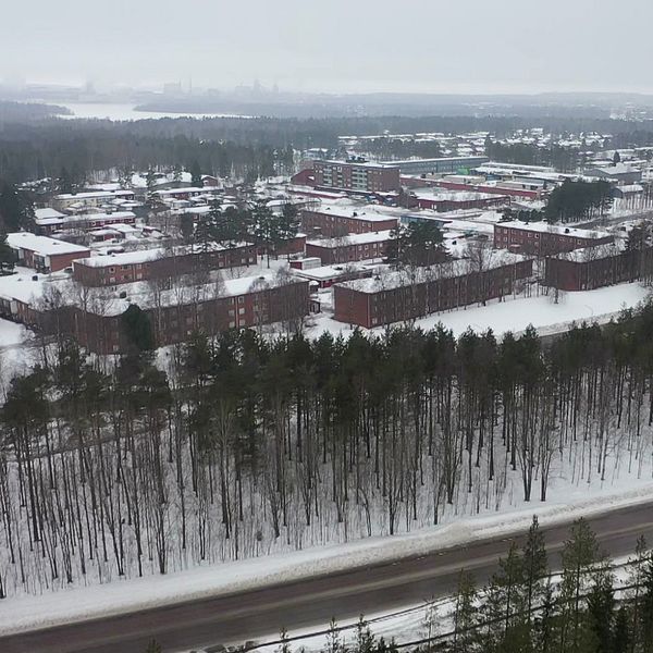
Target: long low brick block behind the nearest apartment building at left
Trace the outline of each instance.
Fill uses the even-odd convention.
[[[111,286],[150,279],[169,279],[198,271],[252,266],[257,261],[256,246],[213,245],[204,251],[199,247],[144,249],[109,256],[94,256],[73,263],[73,278],[85,286]]]

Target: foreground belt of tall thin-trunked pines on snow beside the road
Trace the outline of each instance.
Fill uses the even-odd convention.
[[[167,574],[650,473],[653,305],[543,346],[440,326],[209,341],[4,386],[0,595]]]

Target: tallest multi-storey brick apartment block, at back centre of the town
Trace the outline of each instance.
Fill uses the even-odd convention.
[[[399,169],[382,163],[353,161],[316,161],[315,185],[355,193],[391,193],[402,187]]]

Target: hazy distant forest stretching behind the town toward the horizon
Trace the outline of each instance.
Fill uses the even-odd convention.
[[[427,109],[424,109],[426,111]],[[37,111],[35,109],[35,111]],[[336,151],[343,134],[375,135],[442,132],[463,134],[489,131],[502,138],[533,124],[553,134],[597,131],[613,134],[611,147],[653,144],[653,121],[625,121],[577,115],[426,115],[358,118],[214,118],[161,119],[134,122],[102,120],[38,119],[30,114],[0,122],[0,178],[12,183],[57,177],[63,167],[89,178],[96,171],[199,163],[206,174],[254,178],[291,168],[288,152],[322,147]],[[383,157],[434,156],[430,145],[397,141],[379,145]],[[497,146],[494,146],[497,147]],[[560,156],[563,156],[560,153]],[[510,152],[493,151],[500,161],[517,160]],[[566,156],[566,155],[564,155]],[[519,157],[521,159],[521,157]],[[557,164],[556,161],[551,161]],[[571,165],[569,161],[566,165]]]

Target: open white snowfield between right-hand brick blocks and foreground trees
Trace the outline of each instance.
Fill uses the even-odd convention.
[[[529,324],[538,329],[541,335],[565,331],[571,322],[607,322],[624,308],[632,308],[645,299],[650,289],[639,283],[584,291],[580,293],[560,293],[555,304],[551,296],[506,298],[504,301],[489,301],[488,306],[472,306],[449,312],[442,312],[417,320],[416,326],[432,329],[442,323],[460,335],[468,328],[477,332],[492,329],[496,335],[507,331],[520,332]],[[384,326],[371,330],[383,333]],[[352,332],[348,324],[336,322],[331,312],[315,318],[310,335],[318,337],[323,331],[334,335],[347,335]],[[367,331],[367,330],[364,330]]]

